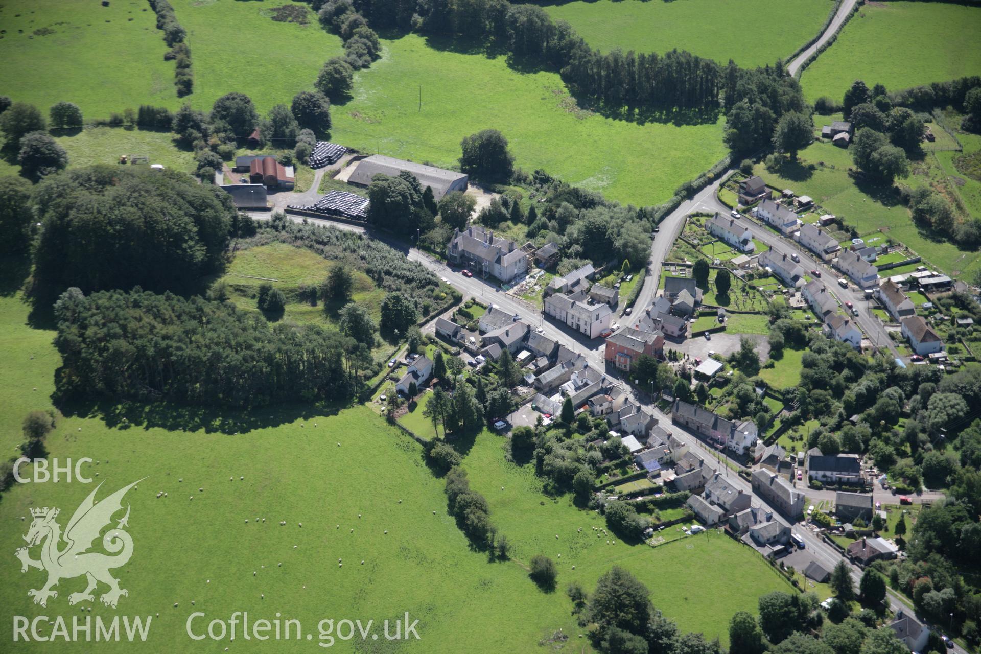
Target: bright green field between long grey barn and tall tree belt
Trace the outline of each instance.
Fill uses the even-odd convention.
[[[639,125],[603,118],[576,108],[558,75],[518,73],[505,57],[431,42],[447,49],[415,34],[383,40],[383,59],[357,73],[353,98],[333,107],[338,142],[453,166],[460,139],[492,127],[508,138],[525,171],[543,168],[610,199],[643,205],[666,200],[725,154],[721,122]],[[651,152],[657,166],[649,165]]]

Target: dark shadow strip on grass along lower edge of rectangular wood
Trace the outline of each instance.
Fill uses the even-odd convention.
[[[299,419],[336,416],[349,405],[339,402],[284,404],[248,411],[197,407],[172,402],[99,402],[72,400],[56,403],[66,417],[97,418],[110,428],[164,428],[169,431],[243,434],[253,429],[274,428]]]

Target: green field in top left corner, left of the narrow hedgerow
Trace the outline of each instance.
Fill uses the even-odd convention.
[[[60,100],[108,118],[140,104],[178,106],[174,62],[145,0],[9,0],[0,8],[4,90],[45,115]],[[53,33],[34,35],[36,29]],[[125,64],[125,65],[123,65]]]

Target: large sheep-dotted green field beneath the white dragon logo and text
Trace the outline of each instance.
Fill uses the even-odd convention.
[[[50,344],[53,332],[26,327],[26,314],[18,299],[0,299],[5,371],[0,392],[6,400],[0,424],[8,452],[26,411],[50,405],[59,365]],[[32,386],[38,387],[36,394]],[[161,411],[157,415],[167,420],[167,408]],[[86,615],[152,616],[150,634],[145,643],[100,643],[99,651],[199,651],[201,643],[184,630],[194,611],[209,620],[227,620],[232,611],[272,620],[279,611],[300,620],[315,638],[317,623],[325,618],[378,622],[408,611],[420,620],[424,644],[416,648],[427,652],[460,651],[460,625],[490,651],[528,651],[555,629],[579,631],[564,593],[542,593],[518,563],[491,564],[485,554],[471,551],[446,513],[443,483],[423,464],[419,445],[370,409],[333,416],[309,406],[266,411],[268,416],[251,416],[264,425],[237,434],[142,425],[120,430],[96,419],[64,418],[48,436],[49,460],[93,459],[83,469],[96,482],[105,481],[100,499],[148,477],[127,495],[134,553],[127,566],[114,571],[129,596],[121,598],[118,609],[103,607],[96,597]],[[21,517],[29,517],[32,507],[61,508],[58,521],[64,527],[94,487],[17,484],[0,502],[0,521],[10,527],[0,534],[0,545],[11,555],[24,545],[29,518],[22,522]],[[161,490],[169,496],[158,499]],[[266,523],[256,524],[256,518]],[[41,585],[42,574],[22,575],[16,563],[9,562],[0,590],[8,615],[61,615],[71,629],[79,611],[69,606],[68,595],[80,590],[84,579],[64,579],[58,597],[41,608],[26,591]],[[0,638],[10,642],[11,628],[4,621]],[[239,643],[240,637],[234,644]],[[209,650],[229,644],[213,642]],[[352,643],[336,644],[339,651],[354,650]],[[17,648],[46,651],[50,643]],[[62,652],[91,648],[85,642],[58,645]],[[289,641],[271,641],[265,648],[298,649]]]

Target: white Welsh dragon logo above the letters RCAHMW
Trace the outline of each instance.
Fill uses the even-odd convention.
[[[109,590],[100,599],[106,606],[116,608],[121,595],[129,595],[125,588],[120,588],[119,579],[114,578],[109,571],[125,566],[132,556],[132,538],[123,530],[129,527],[129,503],[126,515],[117,523],[116,528],[110,528],[102,536],[102,546],[106,551],[116,554],[107,556],[101,552],[89,552],[92,541],[99,537],[103,528],[112,524],[113,515],[123,509],[123,496],[134,485],[142,481],[133,481],[128,486],[117,490],[102,501],[95,500],[95,493],[102,486],[100,483],[88,497],[78,506],[72,520],[68,522],[62,535],[61,526],[55,521],[60,512],[54,507],[31,509],[32,522],[24,539],[26,547],[18,548],[17,558],[21,560],[21,572],[28,568],[47,571],[48,580],[41,588],[32,588],[27,594],[34,598],[34,604],[47,606],[49,597],[58,597],[58,591],[52,586],[58,585],[61,579],[85,576],[88,585],[81,592],[74,592],[68,597],[69,604],[95,601],[92,591],[101,581],[109,585]],[[59,549],[62,539],[67,543],[64,549]],[[28,554],[28,549],[41,544],[41,558],[34,561]],[[122,551],[121,551],[122,550]]]

